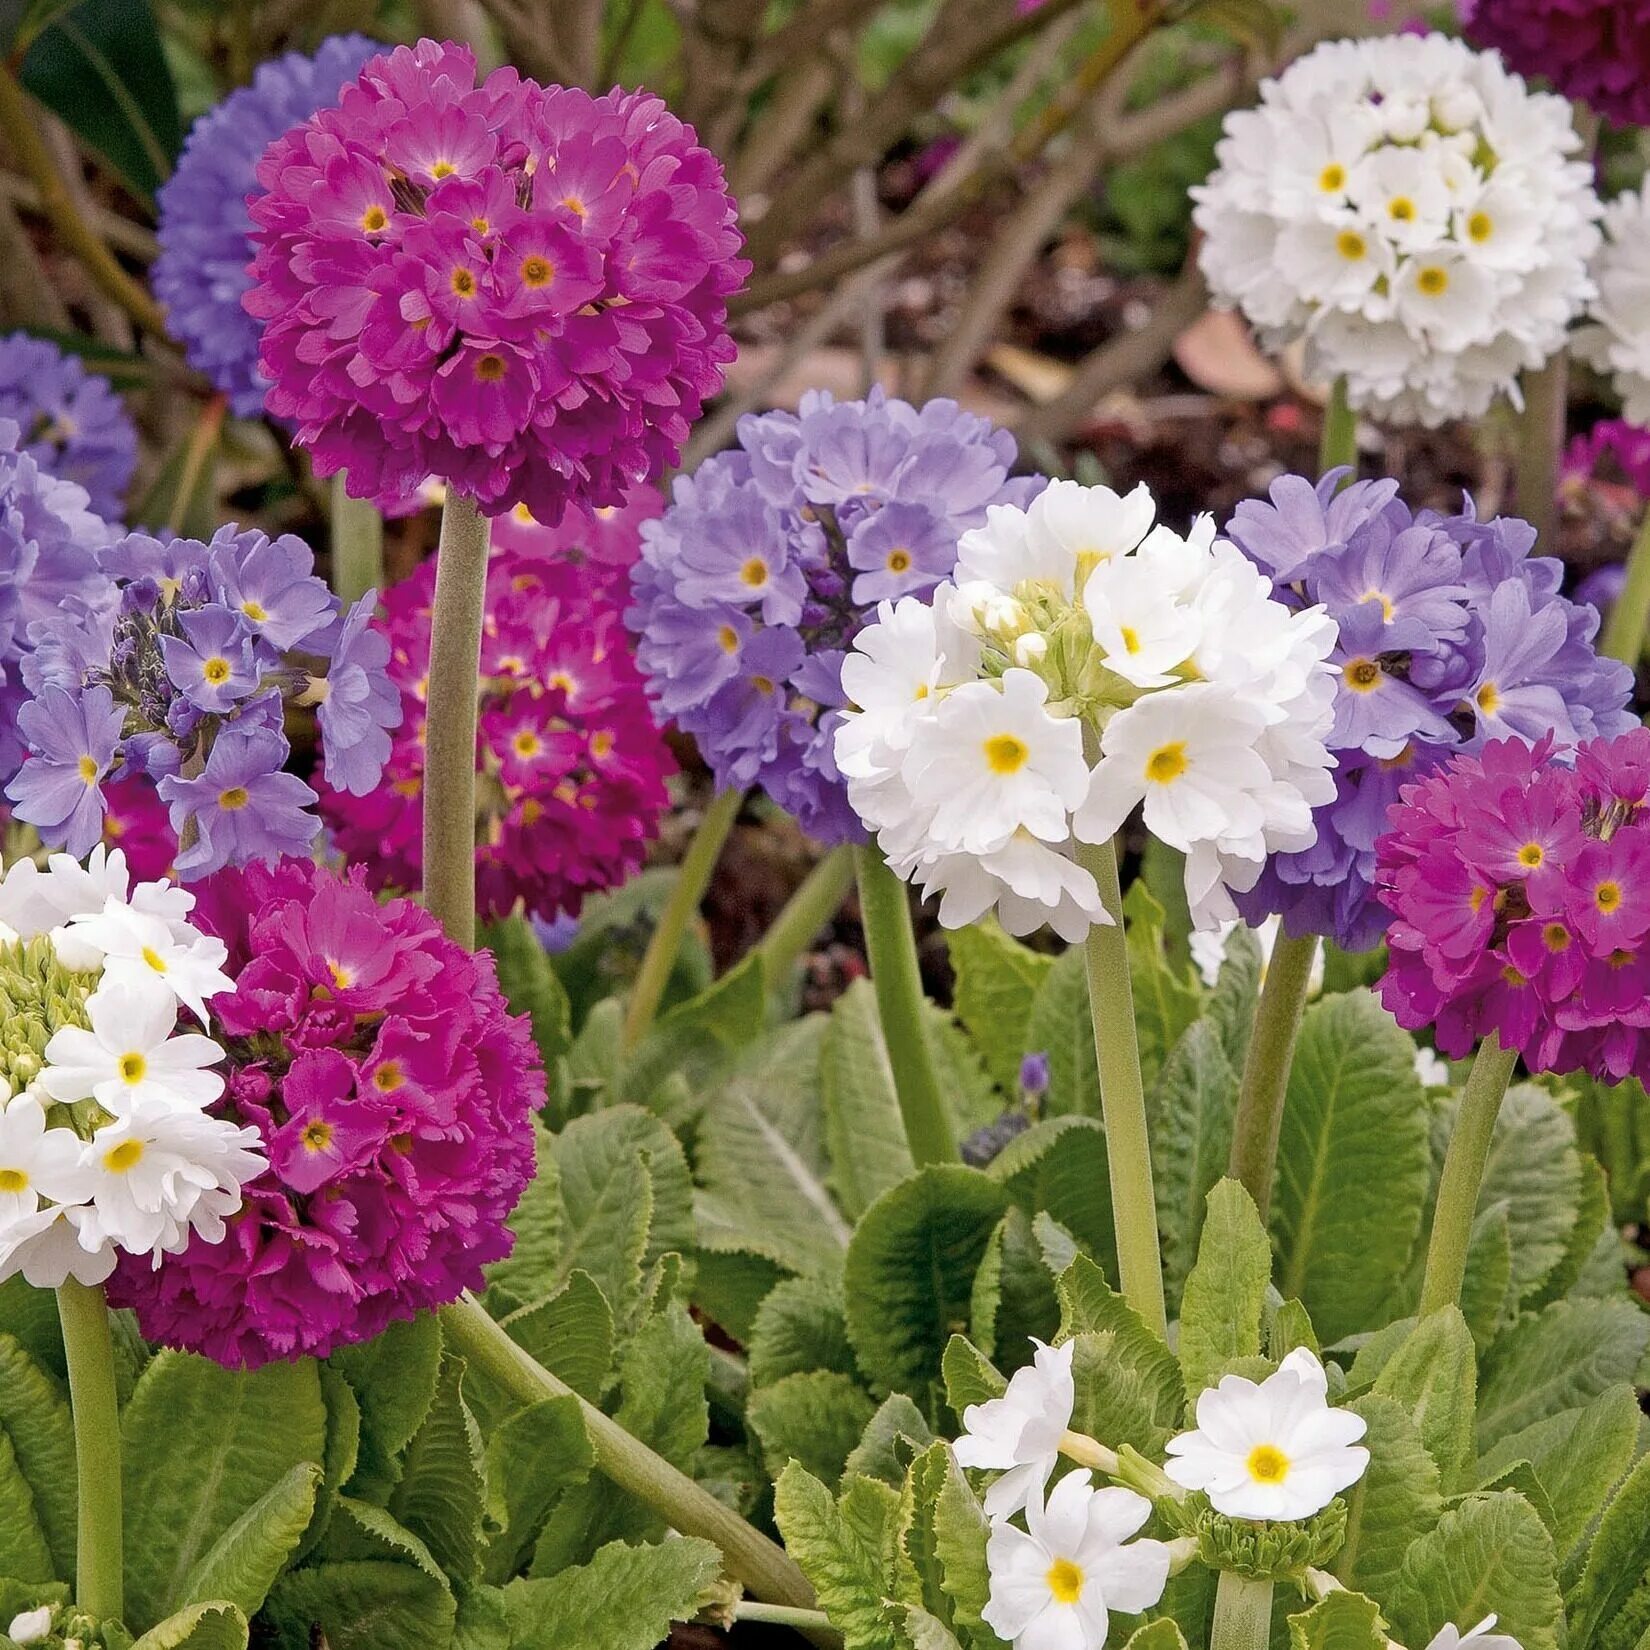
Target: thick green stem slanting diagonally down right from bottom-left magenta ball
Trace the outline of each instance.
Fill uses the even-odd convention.
[[[573,1396],[569,1386],[510,1340],[474,1295],[462,1295],[450,1307],[442,1307],[441,1325],[447,1345],[518,1402],[536,1404],[544,1398]],[[766,1604],[784,1604],[797,1610],[817,1607],[807,1577],[782,1548],[594,1404],[581,1398],[579,1407],[596,1467],[609,1483],[648,1505],[680,1534],[714,1543],[728,1574]]]

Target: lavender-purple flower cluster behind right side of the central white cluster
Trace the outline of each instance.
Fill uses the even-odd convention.
[[[1594,653],[1597,612],[1558,594],[1564,569],[1530,554],[1528,523],[1414,513],[1396,482],[1336,492],[1343,478],[1280,477],[1228,526],[1279,601],[1328,610],[1340,667],[1317,842],[1274,856],[1238,903],[1251,922],[1279,912],[1290,934],[1363,950],[1386,926],[1374,846],[1399,785],[1487,739],[1619,733],[1632,676]]]

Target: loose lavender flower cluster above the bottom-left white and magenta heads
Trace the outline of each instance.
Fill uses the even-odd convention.
[[[315,792],[284,772],[284,706],[315,706],[335,789],[366,794],[401,716],[388,644],[348,612],[290,535],[219,528],[210,544],[130,533],[97,563],[116,599],[41,634],[16,714],[26,759],[7,787],[18,818],[84,853],[111,776],[160,787],[182,876],[309,853]]]

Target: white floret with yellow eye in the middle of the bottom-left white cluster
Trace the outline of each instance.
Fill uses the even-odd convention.
[[[206,1068],[223,1049],[206,1036],[173,1036],[178,1003],[157,982],[119,978],[86,1000],[91,1030],[63,1026],[46,1043],[40,1086],[54,1101],[94,1099],[117,1115],[147,1101],[211,1106],[223,1077]]]

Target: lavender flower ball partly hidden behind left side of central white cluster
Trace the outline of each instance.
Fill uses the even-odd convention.
[[[739,447],[681,477],[642,530],[637,658],[716,782],[759,784],[828,843],[863,840],[832,738],[842,662],[879,601],[926,596],[1010,480],[1015,444],[955,401],[825,391],[739,421]]]

